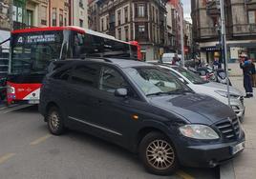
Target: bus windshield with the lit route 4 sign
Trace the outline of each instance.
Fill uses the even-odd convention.
[[[62,31],[12,34],[11,73],[45,72],[59,58],[62,41]]]

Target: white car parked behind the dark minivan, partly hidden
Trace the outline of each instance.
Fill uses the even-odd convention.
[[[224,84],[209,82],[200,78],[199,75],[190,70],[185,70],[177,66],[161,64],[160,67],[170,70],[170,73],[177,75],[190,89],[197,93],[206,94],[228,105],[227,89]],[[241,90],[230,87],[230,105],[241,121],[244,120],[245,106],[244,96]]]

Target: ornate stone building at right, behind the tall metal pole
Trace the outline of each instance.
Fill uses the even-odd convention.
[[[225,0],[228,60],[242,51],[256,58],[256,0]],[[217,0],[192,0],[193,35],[201,58],[210,63],[221,54],[220,4]],[[221,58],[222,59],[222,58]]]

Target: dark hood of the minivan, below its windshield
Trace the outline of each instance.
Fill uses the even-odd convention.
[[[231,108],[218,100],[196,93],[156,96],[150,98],[149,102],[186,118],[190,123],[211,125],[224,118],[236,116]]]

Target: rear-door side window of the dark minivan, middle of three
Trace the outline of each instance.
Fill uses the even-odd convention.
[[[87,87],[96,87],[98,68],[94,65],[79,65],[72,74],[72,82]]]

